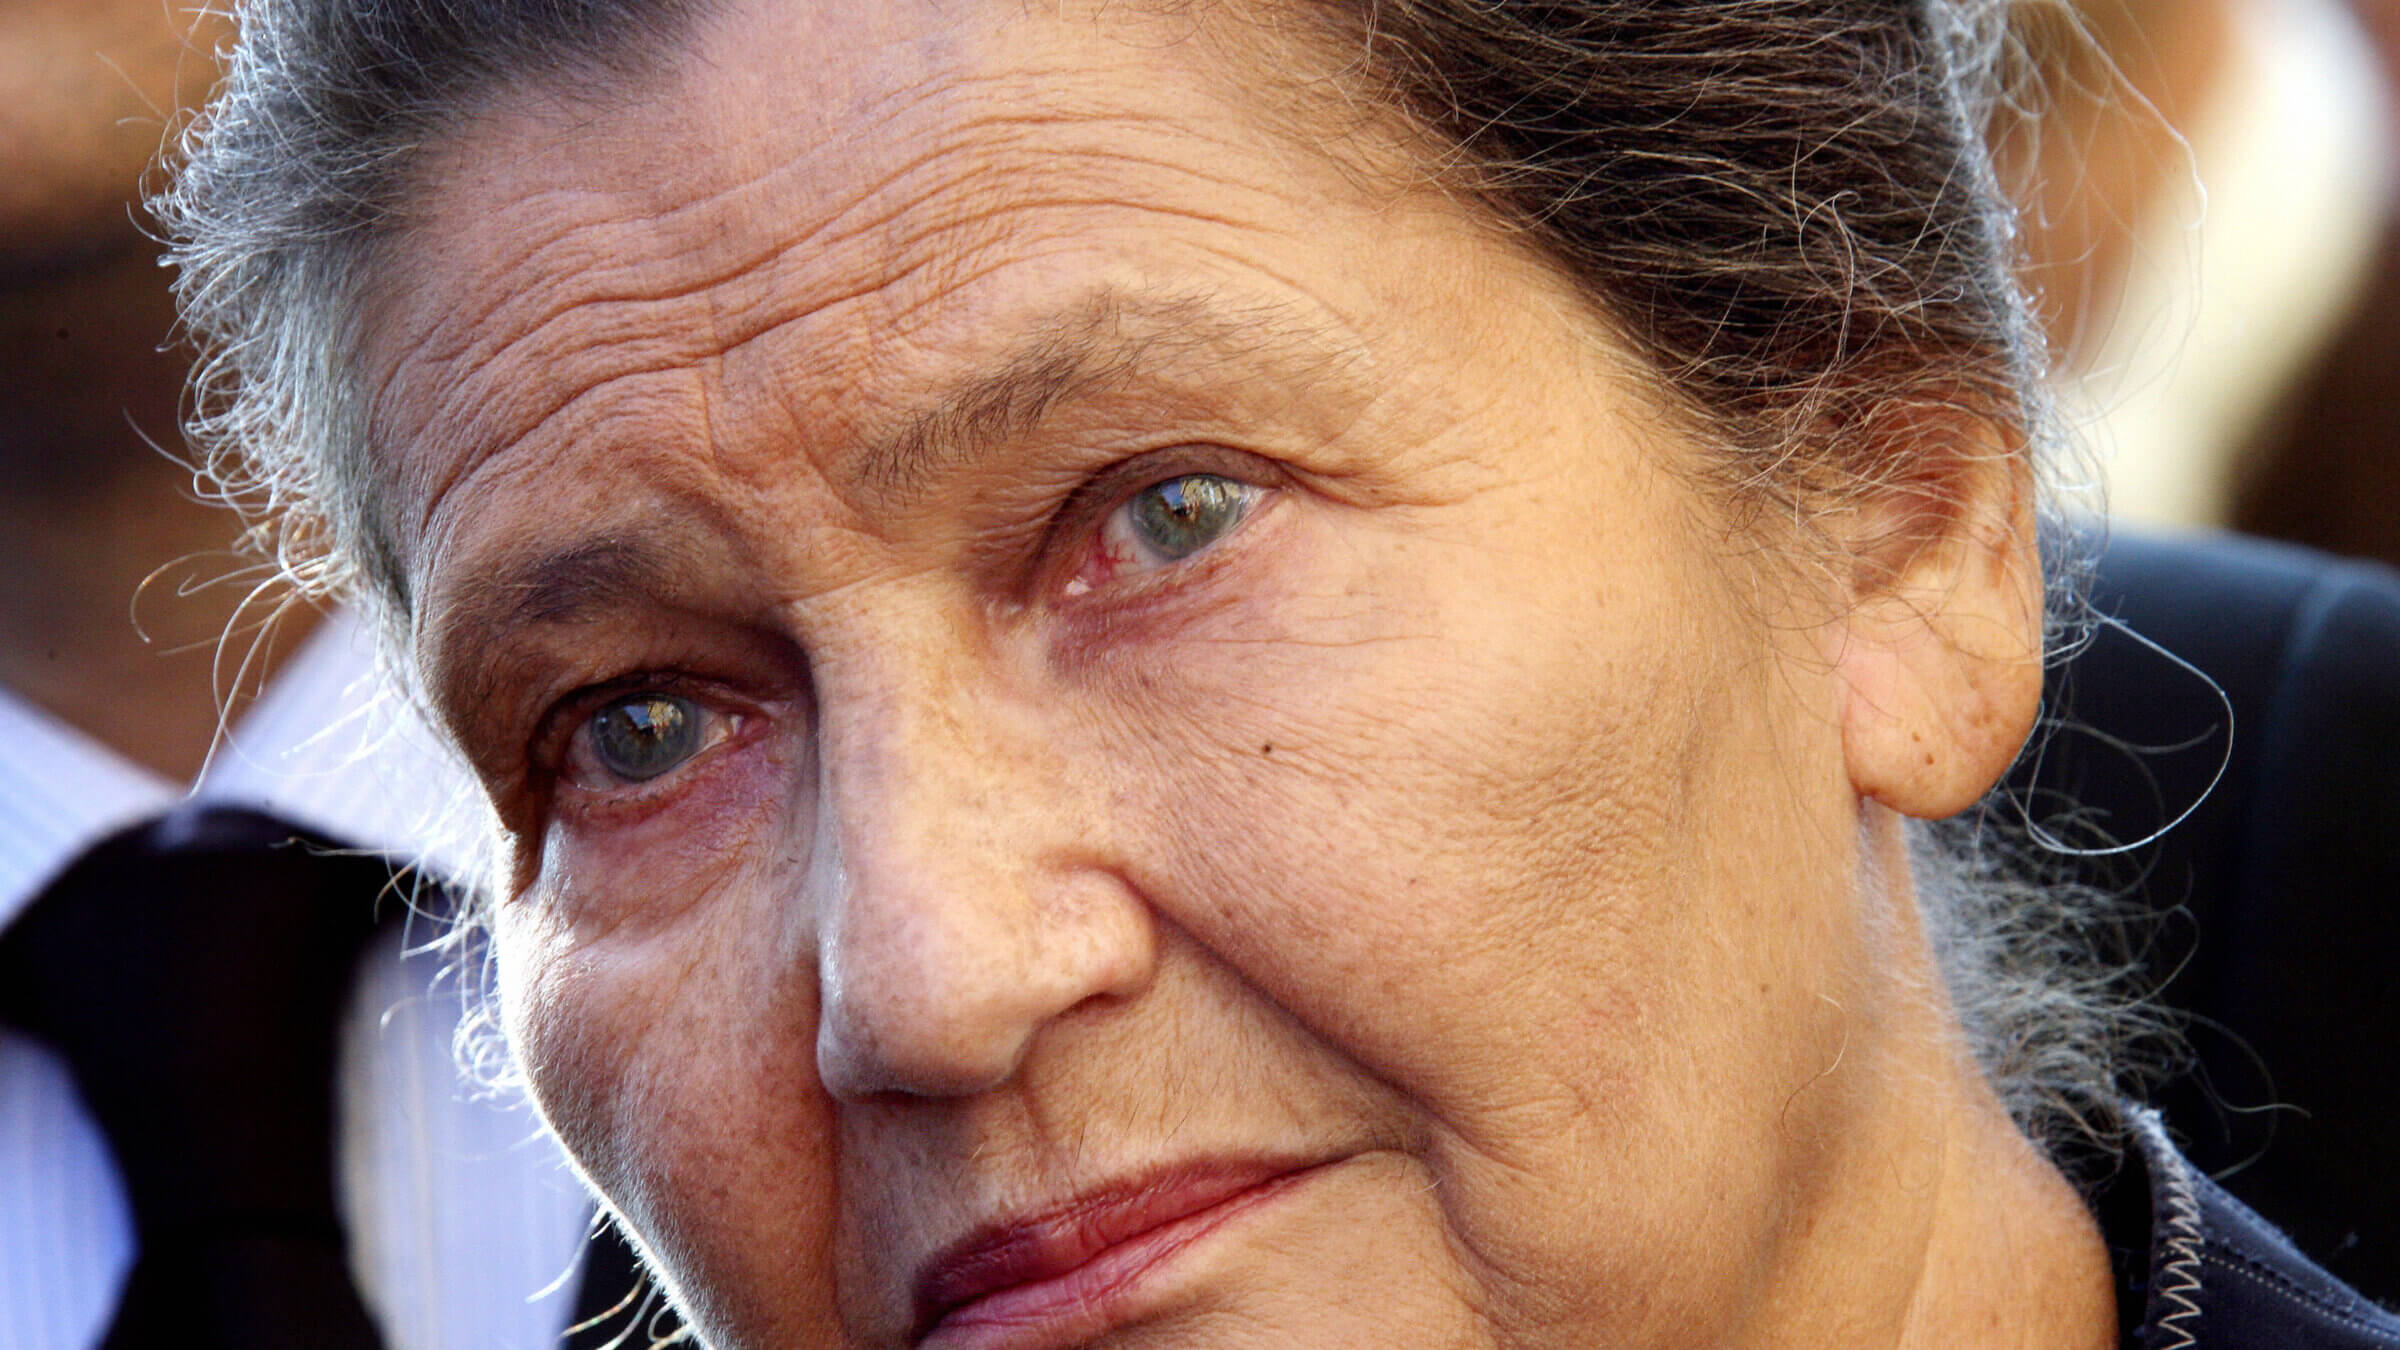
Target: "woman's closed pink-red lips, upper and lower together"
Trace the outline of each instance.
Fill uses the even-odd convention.
[[[970,1232],[917,1273],[917,1343],[1015,1345],[1106,1304],[1313,1167],[1226,1160],[1118,1182]]]

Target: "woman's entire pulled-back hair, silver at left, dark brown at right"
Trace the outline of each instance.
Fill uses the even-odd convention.
[[[197,442],[305,589],[408,622],[367,471],[372,392],[350,370],[427,151],[497,91],[638,79],[708,7],[240,7],[223,94],[154,209],[206,353]],[[1939,432],[1961,413],[2004,428],[2014,454],[2050,454],[2042,344],[1982,137],[2004,2],[1291,0],[1286,14],[1344,89],[1406,115],[1445,190],[1579,286],[1716,447],[1711,488],[1738,519],[1788,528],[1783,545],[1810,548],[1829,502],[1973,454]],[[1879,432],[1896,425],[1913,435]],[[2071,613],[2074,567],[2052,572],[2052,615]],[[2107,1136],[2141,1014],[2095,951],[2110,932],[2095,896],[1994,862],[2023,853],[2002,838],[2014,817],[1987,802],[1915,826],[1930,930],[2018,1124],[2052,1146]]]

